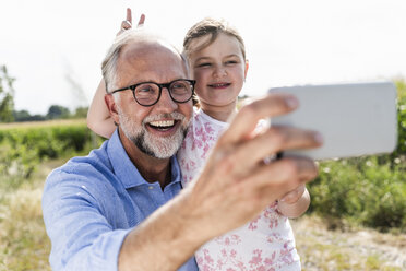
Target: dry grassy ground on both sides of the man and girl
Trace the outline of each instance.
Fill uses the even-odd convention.
[[[46,176],[62,163],[43,164],[29,181],[14,190],[0,187],[0,271],[50,270],[50,241],[44,228],[40,199]],[[315,215],[295,220],[292,226],[303,271],[406,269],[404,234],[382,234]]]

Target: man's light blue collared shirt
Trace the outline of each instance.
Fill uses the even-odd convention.
[[[140,175],[116,131],[88,156],[55,169],[43,197],[52,270],[118,270],[127,234],[181,189],[175,156],[170,164],[172,180],[163,191]],[[179,270],[198,270],[194,257]]]

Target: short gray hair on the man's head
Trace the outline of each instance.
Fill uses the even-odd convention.
[[[101,63],[101,72],[103,78],[106,82],[106,92],[110,93],[117,87],[117,82],[119,80],[117,74],[117,61],[119,59],[121,49],[130,44],[131,42],[141,42],[141,40],[147,40],[147,39],[156,39],[156,40],[165,40],[164,38],[159,37],[156,34],[153,34],[151,32],[147,32],[144,30],[144,27],[138,27],[124,31],[122,34],[120,34],[107,51],[107,55]],[[186,59],[186,57],[180,52],[178,48],[176,48],[174,45],[170,44],[170,46],[179,54],[179,56],[182,58],[186,71],[189,75],[189,64]]]

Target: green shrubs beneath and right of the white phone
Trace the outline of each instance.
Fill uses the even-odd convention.
[[[398,144],[392,154],[329,161],[309,185],[310,211],[406,232],[406,82],[398,91]]]

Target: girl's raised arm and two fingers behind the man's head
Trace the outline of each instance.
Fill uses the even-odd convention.
[[[131,9],[127,9],[127,20],[121,22],[121,28],[117,33],[120,35],[123,31],[131,28],[132,26],[132,15]],[[141,14],[138,26],[142,26],[145,21],[145,15]],[[87,127],[95,133],[104,137],[110,138],[112,132],[116,130],[116,125],[110,118],[110,114],[107,109],[105,103],[106,95],[106,84],[101,80],[98,84],[96,93],[93,97],[91,107],[87,111]]]

